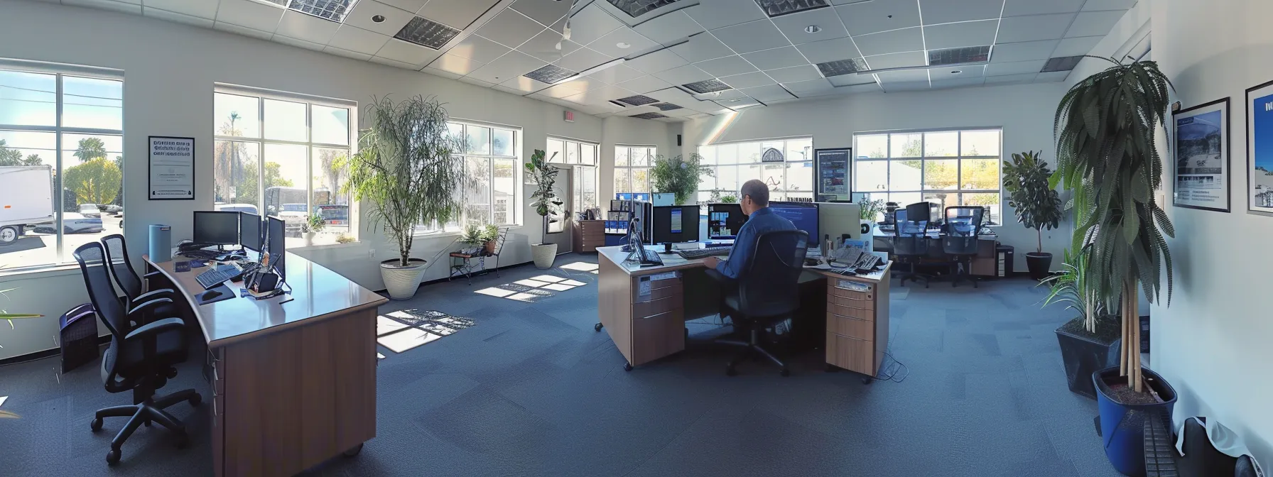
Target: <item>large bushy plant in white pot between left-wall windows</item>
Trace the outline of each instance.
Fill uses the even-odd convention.
[[[349,173],[341,190],[368,201],[370,223],[397,243],[398,257],[381,262],[381,279],[390,296],[402,300],[415,295],[426,266],[411,258],[414,229],[460,216],[463,163],[451,156],[456,144],[447,109],[433,97],[397,104],[378,99],[364,117],[369,128],[359,137],[358,154],[341,162]]]

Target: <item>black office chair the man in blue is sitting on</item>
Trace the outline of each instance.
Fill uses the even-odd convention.
[[[775,230],[756,238],[751,262],[743,266],[738,289],[724,299],[724,313],[736,331],[746,332],[749,340],[717,340],[722,345],[742,346],[727,375],[735,375],[735,366],[751,354],[759,354],[782,368],[782,375],[791,375],[787,364],[760,347],[760,333],[765,328],[792,317],[799,308],[799,273],[805,270],[808,234],[803,230]]]

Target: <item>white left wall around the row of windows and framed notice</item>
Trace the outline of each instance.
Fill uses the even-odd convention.
[[[134,262],[146,244],[149,224],[173,226],[173,238],[191,234],[191,211],[213,206],[213,85],[229,83],[284,92],[332,97],[365,103],[373,95],[393,98],[437,95],[453,118],[522,127],[522,158],[545,149],[546,136],[597,142],[654,144],[671,150],[667,123],[616,118],[605,127],[601,118],[575,113],[563,120],[555,104],[500,93],[423,73],[348,60],[314,51],[242,36],[162,22],[136,15],[43,3],[0,0],[0,57],[103,66],[123,70],[125,235]],[[148,201],[146,136],[195,137],[195,201]],[[629,136],[630,135],[630,136]],[[602,169],[614,160],[614,148],[602,149]],[[202,158],[202,159],[199,159]],[[608,159],[608,162],[607,162]],[[606,183],[606,182],[602,182]],[[524,195],[531,193],[530,187]],[[524,198],[524,197],[523,197]],[[500,265],[531,261],[530,243],[540,240],[540,221],[524,207],[523,224],[509,234]],[[364,221],[365,224],[365,221]],[[415,242],[412,256],[432,258],[451,245],[453,237]],[[453,247],[453,245],[452,245]],[[374,249],[376,256],[370,252]],[[294,251],[360,285],[381,290],[378,262],[397,256],[396,245],[379,230],[362,226],[360,242]],[[446,276],[446,257],[424,280]],[[87,303],[78,270],[0,276],[0,287],[22,289],[3,303],[10,310],[43,313],[43,319],[18,322],[17,331],[0,328],[0,359],[53,347],[57,319],[71,307]],[[421,291],[428,293],[428,291]]]

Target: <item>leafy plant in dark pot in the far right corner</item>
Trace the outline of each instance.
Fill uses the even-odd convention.
[[[1008,205],[1017,221],[1039,235],[1039,247],[1026,253],[1030,277],[1043,280],[1051,270],[1051,253],[1043,251],[1043,229],[1055,229],[1060,224],[1060,196],[1049,182],[1051,170],[1039,153],[1012,154],[1012,162],[1003,162],[1003,188],[1008,191]]]

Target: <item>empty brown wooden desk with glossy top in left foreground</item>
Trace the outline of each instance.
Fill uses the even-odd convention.
[[[144,258],[181,291],[207,343],[216,476],[293,476],[376,436],[376,313],[387,299],[288,253],[292,301],[195,305],[195,276],[209,268]]]

